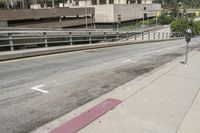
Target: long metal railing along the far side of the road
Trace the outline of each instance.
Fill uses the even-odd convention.
[[[182,33],[123,31],[0,31],[0,50],[183,37]]]

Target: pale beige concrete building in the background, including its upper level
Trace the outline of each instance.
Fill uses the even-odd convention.
[[[121,22],[154,17],[156,12],[161,10],[161,5],[153,4],[152,0],[81,0],[79,6],[95,8],[97,27],[112,27],[116,25],[119,17]]]

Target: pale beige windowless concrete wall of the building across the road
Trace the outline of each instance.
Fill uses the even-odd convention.
[[[160,4],[110,4],[93,7],[95,8],[96,23],[116,23],[118,15],[121,15],[121,21],[142,19],[144,7],[146,11],[153,12],[147,14],[148,17],[156,16],[156,12],[161,10]]]

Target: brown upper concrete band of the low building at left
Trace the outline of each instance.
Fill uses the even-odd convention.
[[[40,19],[60,16],[77,16],[84,15],[84,8],[54,8],[54,9],[16,9],[1,10],[0,21],[8,20],[24,20],[24,19]],[[89,14],[94,14],[94,8],[88,8]]]

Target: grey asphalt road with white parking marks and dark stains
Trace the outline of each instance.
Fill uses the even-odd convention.
[[[0,132],[34,130],[181,56],[184,46],[154,42],[0,62]]]

